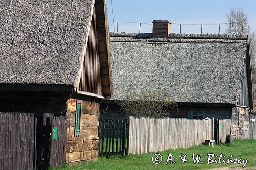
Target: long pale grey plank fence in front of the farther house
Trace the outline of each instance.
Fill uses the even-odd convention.
[[[129,154],[188,148],[212,139],[212,120],[130,117]]]

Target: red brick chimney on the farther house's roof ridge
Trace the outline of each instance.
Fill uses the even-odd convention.
[[[172,22],[168,20],[153,20],[153,37],[168,37],[170,34],[170,25]]]

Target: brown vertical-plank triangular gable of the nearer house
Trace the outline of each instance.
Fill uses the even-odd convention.
[[[96,14],[94,12],[78,90],[103,95],[98,51]]]

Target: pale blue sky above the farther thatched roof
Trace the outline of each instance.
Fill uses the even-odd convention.
[[[152,23],[152,20],[170,20],[172,23],[198,25],[181,25],[182,33],[218,33],[218,23],[226,23],[226,14],[230,8],[242,8],[251,20],[251,29],[256,30],[256,1],[238,0],[112,0],[114,21],[118,21],[118,32],[139,32],[139,23]],[[112,24],[111,0],[107,0],[110,32],[114,32]],[[252,19],[251,19],[252,18]],[[217,23],[216,25],[205,25]],[[152,25],[141,25],[141,32],[152,32]],[[220,25],[221,33],[225,33],[225,25]],[[115,31],[117,25],[115,23]],[[180,25],[173,24],[172,32],[180,32]]]

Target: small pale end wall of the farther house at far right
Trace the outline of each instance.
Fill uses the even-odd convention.
[[[232,110],[232,135],[234,139],[246,139],[248,130],[249,108],[235,107]]]

